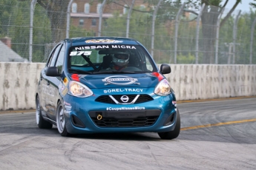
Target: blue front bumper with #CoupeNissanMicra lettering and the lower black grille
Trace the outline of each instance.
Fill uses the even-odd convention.
[[[96,102],[98,96],[65,96],[65,122],[70,134],[174,130],[177,108],[173,93],[167,96],[152,94],[153,101],[126,105]]]

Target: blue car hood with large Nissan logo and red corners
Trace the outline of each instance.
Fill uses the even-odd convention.
[[[147,88],[157,86],[164,78],[159,72],[142,74],[102,74],[102,75],[79,75],[71,74],[70,79],[79,81],[91,89],[119,87]]]

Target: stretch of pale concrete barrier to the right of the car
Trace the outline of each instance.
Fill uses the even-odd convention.
[[[177,101],[256,95],[256,65],[171,64]]]

